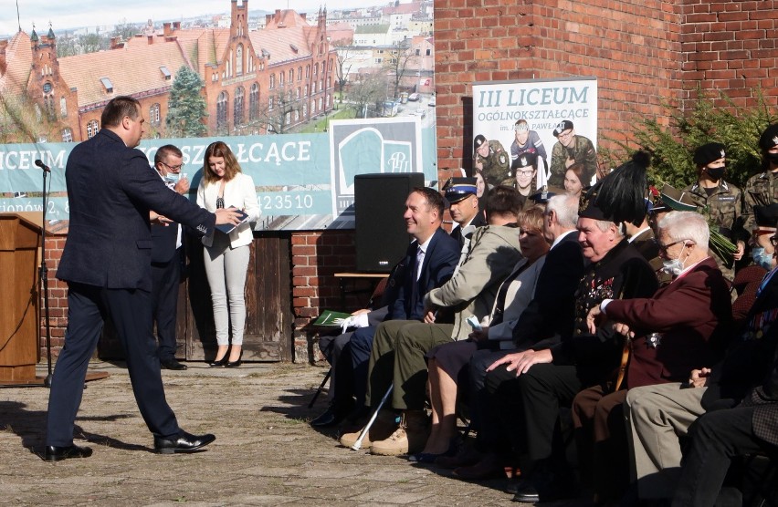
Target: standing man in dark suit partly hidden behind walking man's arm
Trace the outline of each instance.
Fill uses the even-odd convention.
[[[154,154],[154,169],[165,185],[184,195],[189,191],[186,175],[180,176],[184,155],[172,144],[161,146]],[[181,225],[151,212],[152,221],[152,312],[157,325],[160,365],[182,370],[186,365],[175,360],[175,316],[178,309],[178,285],[184,263]]]

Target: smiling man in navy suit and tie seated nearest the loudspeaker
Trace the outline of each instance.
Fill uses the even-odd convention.
[[[444,202],[441,195],[429,188],[415,188],[405,202],[405,223],[414,241],[408,246],[403,260],[394,268],[384,292],[384,307],[373,312],[360,311],[352,316],[353,332],[335,338],[333,368],[343,360],[352,361],[351,386],[338,381],[339,399],[356,398],[358,411],[364,406],[367,386],[367,363],[373,346],[375,328],[381,322],[393,319],[421,320],[424,316],[424,295],[445,284],[459,260],[459,243],[440,228]],[[421,264],[418,263],[419,252]],[[342,357],[346,352],[350,357]],[[341,372],[341,367],[338,367]],[[337,377],[337,372],[336,372]],[[311,423],[326,427],[342,419],[342,410],[328,410]]]

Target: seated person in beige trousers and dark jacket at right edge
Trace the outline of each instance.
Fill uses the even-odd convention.
[[[778,221],[778,204],[760,210]],[[773,243],[776,236],[773,235]],[[678,486],[681,446],[678,437],[708,409],[734,407],[749,389],[759,386],[770,372],[774,354],[775,317],[778,316],[778,277],[773,269],[764,276],[745,324],[731,340],[726,356],[714,367],[691,371],[689,382],[630,389],[625,412],[633,479],[642,500],[668,499]],[[772,330],[772,331],[771,331]],[[767,340],[773,336],[772,341]],[[704,367],[703,367],[704,366]],[[712,502],[710,502],[712,504]]]

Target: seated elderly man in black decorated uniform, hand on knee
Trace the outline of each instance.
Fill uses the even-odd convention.
[[[606,382],[618,366],[621,350],[611,326],[589,334],[589,310],[605,299],[647,297],[657,290],[651,266],[608,218],[595,199],[579,212],[578,241],[591,264],[575,293],[573,335],[541,341],[488,368],[486,387],[504,418],[504,428],[510,429],[514,447],[526,450],[517,502],[544,502],[573,494],[557,424],[559,411],[569,407],[582,389]]]

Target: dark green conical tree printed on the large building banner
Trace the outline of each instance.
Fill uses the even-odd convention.
[[[203,79],[191,68],[178,69],[173,79],[168,100],[167,127],[168,137],[194,138],[207,133],[205,119],[205,98],[201,95]]]

